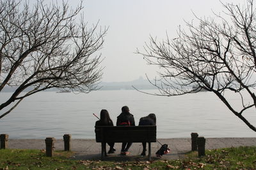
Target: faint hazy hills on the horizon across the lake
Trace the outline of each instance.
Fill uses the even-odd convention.
[[[147,89],[157,89],[154,85],[151,85],[148,80],[143,79],[142,76],[136,80],[132,81],[121,81],[121,82],[100,82],[98,87],[99,90],[134,90],[132,87],[134,86],[136,89],[147,90]],[[2,92],[14,92],[17,87],[4,87]],[[24,92],[28,92],[31,89],[27,89]],[[65,89],[68,90],[68,89]],[[62,92],[60,89],[52,88],[45,90],[44,92]]]

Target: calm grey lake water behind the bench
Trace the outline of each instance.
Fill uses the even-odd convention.
[[[154,92],[154,90],[147,90]],[[238,97],[230,97],[239,107]],[[1,93],[3,101],[10,93]],[[129,106],[136,124],[140,117],[156,113],[157,138],[189,138],[191,132],[204,137],[255,137],[256,132],[234,116],[211,92],[186,96],[148,96],[136,90],[95,91],[90,94],[40,92],[24,99],[17,108],[0,119],[0,134],[10,138],[46,137],[95,138],[94,125],[101,109],[106,109],[115,124],[122,106]],[[255,110],[246,117],[256,124]]]

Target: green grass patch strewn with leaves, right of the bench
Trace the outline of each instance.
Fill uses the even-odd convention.
[[[191,152],[182,160],[182,166],[193,169],[256,169],[256,147],[222,148],[206,150],[205,157],[197,158],[197,152]]]

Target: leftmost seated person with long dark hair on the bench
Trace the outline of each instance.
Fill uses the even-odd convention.
[[[100,111],[100,120],[95,123],[95,126],[113,126],[113,121],[109,117],[108,110],[101,110]],[[109,151],[108,153],[115,153],[116,149],[114,148],[115,143],[108,143]]]

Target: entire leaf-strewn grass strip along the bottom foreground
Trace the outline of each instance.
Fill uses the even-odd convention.
[[[44,150],[0,150],[0,170],[9,169],[256,169],[256,147],[206,150],[198,158],[190,152],[182,160],[154,160],[139,162],[109,162],[100,160],[72,160],[73,152],[54,152],[45,157]]]

